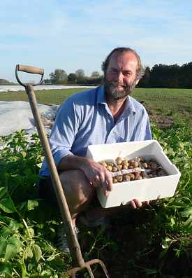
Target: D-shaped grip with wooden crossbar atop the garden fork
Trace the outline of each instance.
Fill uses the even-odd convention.
[[[24,71],[24,72],[27,72],[28,74],[40,74],[41,75],[40,81],[37,84],[33,84],[34,86],[35,85],[40,85],[40,83],[42,83],[42,81],[43,81],[44,69],[39,69],[37,67],[24,66],[22,64],[17,64],[17,66],[15,68],[15,76],[17,78],[18,83],[20,83],[20,85],[22,85],[24,87],[27,84],[24,84],[24,83],[22,83],[22,81],[20,81],[20,78],[17,74],[17,71]]]

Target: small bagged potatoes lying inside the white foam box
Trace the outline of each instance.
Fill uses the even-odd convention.
[[[157,176],[166,176],[167,173],[154,159],[146,160],[143,157],[128,160],[128,158],[116,158],[115,161],[99,162],[109,172],[112,172],[112,182],[134,181],[150,179]]]

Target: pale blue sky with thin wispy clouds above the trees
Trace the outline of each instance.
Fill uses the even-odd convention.
[[[192,1],[3,0],[0,78],[15,81],[15,65],[67,74],[101,72],[112,48],[129,46],[142,63],[192,61]]]

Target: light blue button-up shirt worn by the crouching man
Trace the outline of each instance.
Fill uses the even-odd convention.
[[[145,107],[133,97],[115,122],[105,99],[103,86],[79,92],[61,104],[50,134],[50,147],[56,166],[66,155],[86,156],[92,144],[152,139]],[[49,175],[44,160],[40,176]]]

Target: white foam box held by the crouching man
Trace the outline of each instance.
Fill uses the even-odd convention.
[[[103,193],[103,188],[97,188],[98,200],[102,207],[117,207],[122,202],[126,204],[133,199],[138,199],[142,202],[172,197],[175,194],[181,173],[165,155],[158,141],[147,140],[100,144],[90,145],[87,148],[87,157],[94,159],[96,162],[115,160],[118,156],[128,159],[139,156],[143,156],[146,159],[154,158],[165,169],[168,176],[114,183],[112,191],[107,197]]]

